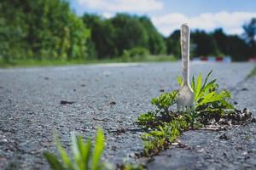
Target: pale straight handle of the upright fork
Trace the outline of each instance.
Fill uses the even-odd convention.
[[[183,80],[184,84],[189,84],[189,26],[183,24],[181,26],[181,52],[183,61]]]

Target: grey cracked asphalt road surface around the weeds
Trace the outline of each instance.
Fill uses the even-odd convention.
[[[104,159],[134,160],[143,150],[140,113],[150,99],[177,89],[181,63],[79,65],[0,69],[0,169],[49,169],[44,150],[55,151],[56,129],[63,144],[73,132],[93,137],[96,127],[106,136]],[[213,70],[220,88],[256,113],[256,78],[245,77],[250,63],[191,63],[191,74]],[[61,105],[62,101],[74,102]],[[65,102],[64,102],[65,103]],[[180,138],[187,149],[172,148],[147,163],[148,169],[256,169],[256,124],[216,133],[189,131]],[[227,140],[218,139],[226,133]]]

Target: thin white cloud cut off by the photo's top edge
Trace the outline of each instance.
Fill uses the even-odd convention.
[[[160,0],[78,0],[79,5],[108,12],[149,12],[160,10]]]

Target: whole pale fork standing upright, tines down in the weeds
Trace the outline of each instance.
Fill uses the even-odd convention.
[[[194,108],[194,92],[189,84],[189,26],[181,26],[181,52],[183,62],[183,85],[177,93],[177,110],[182,111]]]

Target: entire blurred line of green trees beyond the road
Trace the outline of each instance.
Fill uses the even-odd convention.
[[[191,56],[230,55],[234,60],[255,56],[256,19],[243,35],[191,32]],[[179,31],[164,37],[147,16],[73,13],[65,0],[3,0],[0,3],[0,60],[90,60],[172,54],[180,58]]]

